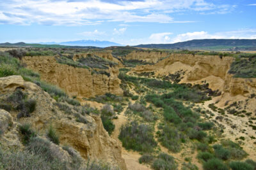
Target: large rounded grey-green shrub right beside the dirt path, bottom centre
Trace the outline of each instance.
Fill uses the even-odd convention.
[[[148,125],[130,122],[122,125],[118,136],[126,149],[139,152],[152,152],[157,146],[154,140],[153,130]]]

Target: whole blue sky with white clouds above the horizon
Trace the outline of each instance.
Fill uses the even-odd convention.
[[[256,39],[254,0],[0,0],[0,43]]]

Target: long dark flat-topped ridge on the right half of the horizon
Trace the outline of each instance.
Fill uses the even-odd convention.
[[[194,39],[173,44],[148,44],[136,45],[140,48],[161,48],[161,49],[209,49],[228,50],[228,48],[254,48],[256,49],[256,39]]]

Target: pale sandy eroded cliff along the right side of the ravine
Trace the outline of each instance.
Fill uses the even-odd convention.
[[[170,57],[154,65],[136,66],[137,73],[154,72],[155,76],[166,76],[177,71],[185,74],[180,83],[202,83],[207,81],[213,90],[229,93],[231,96],[249,96],[256,93],[256,78],[234,78],[228,74],[233,57],[216,55],[191,55],[172,53]]]

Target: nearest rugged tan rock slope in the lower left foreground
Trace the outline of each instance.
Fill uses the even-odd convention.
[[[70,114],[63,113],[56,101],[44,92],[35,83],[24,81],[21,76],[9,76],[0,78],[0,99],[10,96],[17,88],[28,94],[29,99],[36,100],[36,108],[31,117],[17,119],[17,112],[0,110],[1,131],[3,132],[0,141],[2,145],[10,148],[22,149],[22,139],[20,138],[18,125],[25,122],[32,125],[38,134],[46,137],[47,129],[52,125],[60,136],[60,145],[72,146],[86,160],[104,160],[120,169],[126,169],[124,159],[122,159],[122,147],[109,137],[104,129],[98,115],[83,115],[86,123],[76,121],[76,116],[72,114],[74,108],[70,106]],[[10,124],[12,124],[10,126]],[[52,143],[52,145],[54,145]],[[58,145],[54,145],[61,153],[63,159],[68,153]],[[65,156],[65,157],[64,157]],[[62,158],[61,158],[62,159]]]

